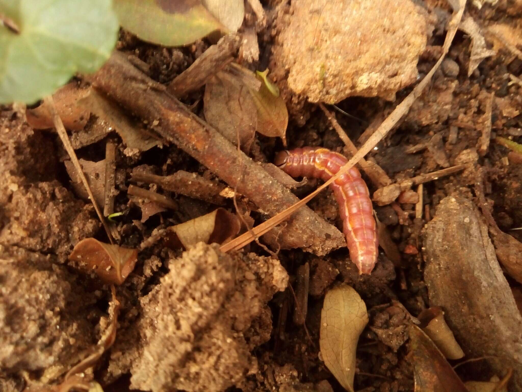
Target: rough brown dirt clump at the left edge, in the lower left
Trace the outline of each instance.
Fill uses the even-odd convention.
[[[42,379],[53,379],[96,343],[96,297],[53,257],[1,245],[0,254],[0,375],[45,371]]]

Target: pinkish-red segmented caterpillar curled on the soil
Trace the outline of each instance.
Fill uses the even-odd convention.
[[[279,152],[274,164],[292,177],[315,177],[326,181],[347,162],[344,156],[327,148],[303,147]],[[355,167],[330,187],[339,203],[350,258],[359,273],[370,273],[377,262],[378,239],[368,187]]]

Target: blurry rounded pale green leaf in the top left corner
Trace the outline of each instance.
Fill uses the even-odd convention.
[[[118,21],[111,0],[0,0],[0,103],[32,103],[76,72],[92,73],[109,58]]]

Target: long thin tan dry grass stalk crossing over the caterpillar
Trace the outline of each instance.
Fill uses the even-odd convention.
[[[401,119],[401,117],[408,112],[413,102],[422,93],[422,90],[426,87],[426,85],[428,85],[431,78],[433,77],[433,74],[437,70],[438,66],[441,65],[442,61],[444,60],[444,57],[448,53],[449,47],[453,42],[455,33],[457,32],[457,27],[460,23],[460,19],[462,18],[462,14],[464,13],[466,0],[460,0],[459,5],[460,8],[454,11],[453,17],[448,24],[449,30],[446,34],[446,39],[444,41],[444,51],[442,53],[442,56],[440,57],[440,59],[438,59],[438,61],[435,63],[430,72],[426,74],[424,79],[422,79],[421,82],[415,88],[413,88],[411,93],[402,102],[400,102],[399,105],[397,105],[397,107],[394,109],[394,111],[390,113],[390,115],[386,118],[386,120],[383,121],[381,126],[379,126],[379,128],[377,129],[378,132],[374,132],[369,137],[369,139],[366,141],[366,143],[364,143],[364,145],[357,152],[357,154],[355,154],[345,166],[341,167],[335,176],[331,177],[322,186],[320,186],[314,192],[307,195],[298,203],[295,203],[294,205],[288,207],[288,209],[270,218],[268,221],[263,222],[262,224],[254,227],[252,229],[254,235],[259,236],[267,233],[274,226],[286,220],[288,216],[292,214],[294,211],[298,210],[301,206],[312,200],[319,192],[328,187],[332,182],[334,182],[340,176],[345,174],[348,170],[350,170],[353,167],[353,165],[355,165],[355,163],[359,162],[361,158],[363,158],[367,153],[369,153],[372,150],[372,148],[375,147],[375,145],[378,142],[380,142],[384,136],[386,136],[386,134],[393,128],[393,126]],[[220,249],[223,252],[227,252],[231,249],[241,249],[246,244],[250,243],[252,239],[253,238],[250,233],[245,233],[233,239],[229,243],[222,245]]]

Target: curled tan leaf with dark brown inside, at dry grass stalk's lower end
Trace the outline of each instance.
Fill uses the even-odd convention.
[[[199,242],[223,244],[236,236],[240,228],[241,222],[236,215],[218,208],[209,214],[169,227],[165,234],[165,245],[171,249],[190,249]]]

